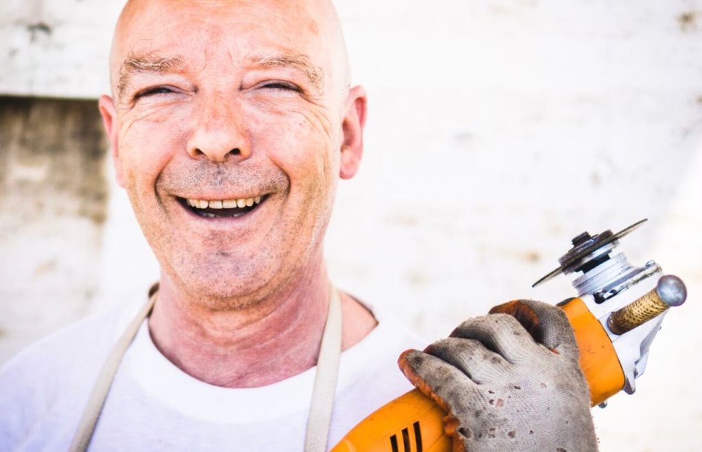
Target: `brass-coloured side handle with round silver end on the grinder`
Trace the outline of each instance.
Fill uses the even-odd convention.
[[[657,317],[671,306],[680,306],[686,298],[687,290],[682,280],[675,275],[665,275],[650,292],[611,313],[607,327],[614,334],[624,334]]]

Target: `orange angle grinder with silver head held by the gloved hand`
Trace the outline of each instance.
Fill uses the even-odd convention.
[[[580,365],[590,386],[592,406],[604,406],[620,390],[635,390],[635,378],[646,367],[649,345],[661,328],[664,314],[687,296],[684,284],[649,261],[631,266],[624,254],[610,256],[618,239],[646,220],[616,234],[607,230],[582,233],[553,270],[534,286],[559,273],[583,272],[573,282],[578,297],[559,303],[574,329]],[[515,302],[491,313],[514,314]],[[450,452],[444,433],[444,412],[419,390],[397,397],[362,420],[334,446],[332,452]]]

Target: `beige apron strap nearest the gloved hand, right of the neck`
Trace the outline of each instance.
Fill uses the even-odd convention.
[[[317,359],[317,374],[307,417],[305,452],[324,452],[329,441],[329,425],[336,391],[339,357],[341,355],[341,300],[338,290],[329,287],[329,313],[326,316],[322,345]]]

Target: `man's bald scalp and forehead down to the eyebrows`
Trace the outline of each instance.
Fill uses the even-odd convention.
[[[183,50],[205,58],[193,61]],[[119,99],[136,72],[197,71],[218,52],[228,54],[232,67],[255,62],[298,69],[324,93],[345,95],[350,85],[345,41],[329,0],[130,0],[112,41],[112,93]]]

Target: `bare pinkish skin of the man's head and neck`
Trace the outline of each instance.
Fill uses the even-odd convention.
[[[366,114],[329,1],[129,1],[110,69],[100,113],[117,180],[161,265],[154,344],[229,387],[314,366],[329,301],[322,239]],[[186,205],[258,196],[239,217]],[[341,301],[348,348],[376,321]]]

